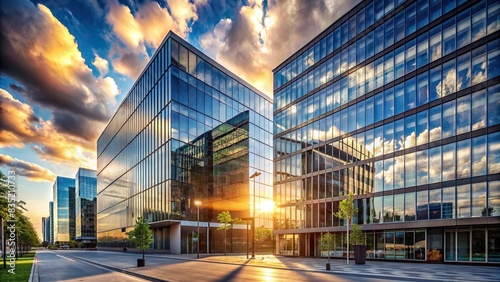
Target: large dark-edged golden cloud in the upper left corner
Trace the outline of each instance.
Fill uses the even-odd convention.
[[[95,124],[107,122],[115,105],[115,81],[93,76],[73,35],[46,6],[14,1],[0,15],[0,72],[21,83],[30,102],[52,110],[59,133],[95,140],[102,129]]]

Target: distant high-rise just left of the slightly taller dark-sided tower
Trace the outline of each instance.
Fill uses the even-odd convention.
[[[75,240],[75,180],[58,176],[53,186],[53,199],[53,242],[69,243]]]

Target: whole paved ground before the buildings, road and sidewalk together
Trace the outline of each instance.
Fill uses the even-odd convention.
[[[137,268],[141,255],[134,252],[42,251],[37,256],[38,281],[287,281],[290,277],[297,281],[500,281],[499,267],[482,265],[385,261],[347,265],[345,259],[331,259],[331,270],[326,270],[323,258],[200,254],[197,259],[196,254],[155,253],[146,254],[146,267]],[[54,264],[54,259],[59,261]],[[86,275],[75,276],[81,265]],[[79,270],[73,272],[72,267]],[[98,275],[90,274],[92,268]]]

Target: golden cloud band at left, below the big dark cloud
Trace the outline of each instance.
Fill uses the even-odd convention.
[[[63,122],[73,122],[75,130],[85,130],[73,118],[68,115]],[[38,118],[29,105],[0,89],[0,147],[24,148],[30,145],[44,160],[66,163],[75,168],[95,167],[95,139],[61,133],[55,123],[57,121]],[[102,127],[95,121],[87,124],[94,128]]]

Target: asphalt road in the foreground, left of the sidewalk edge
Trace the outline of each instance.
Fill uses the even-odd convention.
[[[146,267],[137,268],[137,258],[140,258],[140,254],[42,251],[38,253],[40,281],[387,281],[376,277],[361,278],[147,255]]]

